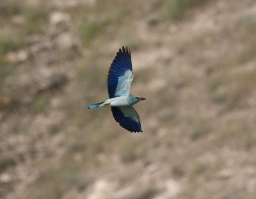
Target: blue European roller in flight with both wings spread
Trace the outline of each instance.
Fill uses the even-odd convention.
[[[116,122],[131,132],[142,132],[140,115],[132,105],[145,100],[144,97],[130,95],[133,79],[131,51],[128,47],[116,53],[108,72],[109,99],[87,106],[87,110],[110,106]]]

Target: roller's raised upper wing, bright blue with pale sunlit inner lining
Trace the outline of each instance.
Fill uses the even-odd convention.
[[[116,53],[108,72],[108,95],[109,98],[128,96],[131,90],[133,74],[131,51],[128,47]]]

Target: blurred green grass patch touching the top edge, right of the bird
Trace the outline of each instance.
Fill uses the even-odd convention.
[[[172,0],[165,5],[166,16],[172,20],[182,19],[189,8],[207,3],[209,0]]]

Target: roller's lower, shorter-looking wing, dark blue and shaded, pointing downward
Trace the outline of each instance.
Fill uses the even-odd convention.
[[[132,106],[111,107],[113,117],[121,127],[131,132],[142,132],[140,115]]]

